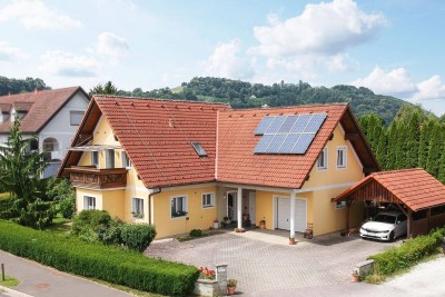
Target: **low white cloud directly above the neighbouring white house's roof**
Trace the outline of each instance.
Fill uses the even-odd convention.
[[[40,60],[41,70],[62,77],[95,77],[99,66],[91,57],[61,50],[47,51]]]

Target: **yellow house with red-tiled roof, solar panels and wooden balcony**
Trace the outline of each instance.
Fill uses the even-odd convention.
[[[158,237],[237,226],[314,235],[343,229],[332,198],[379,166],[345,103],[233,110],[227,105],[95,97],[59,175],[77,207],[155,224]],[[363,207],[353,207],[357,225]]]

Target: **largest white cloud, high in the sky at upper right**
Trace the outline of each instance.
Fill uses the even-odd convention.
[[[352,0],[307,4],[299,16],[280,21],[270,14],[268,21],[268,26],[254,28],[259,44],[249,52],[265,56],[269,66],[296,63],[295,70],[306,59],[310,67],[325,65],[332,71],[345,71],[350,67],[344,58],[340,61],[342,53],[374,39],[387,26],[384,16],[366,13]]]

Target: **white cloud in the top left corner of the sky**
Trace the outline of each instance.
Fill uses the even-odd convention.
[[[14,0],[0,9],[0,22],[18,20],[27,29],[80,27],[80,21],[51,10],[41,0]]]

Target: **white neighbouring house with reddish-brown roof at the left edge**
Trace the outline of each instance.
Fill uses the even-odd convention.
[[[18,117],[23,138],[37,137],[30,149],[49,152],[43,177],[55,176],[88,102],[89,97],[80,87],[1,96],[0,145],[8,141]]]

